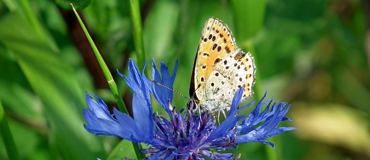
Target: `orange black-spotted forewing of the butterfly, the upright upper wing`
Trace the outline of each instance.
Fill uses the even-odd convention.
[[[228,26],[216,18],[209,18],[202,30],[193,67],[189,95],[202,102],[206,94],[205,83],[222,59],[235,51],[235,39]]]

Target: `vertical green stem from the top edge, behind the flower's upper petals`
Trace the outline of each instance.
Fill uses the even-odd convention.
[[[131,19],[133,27],[133,36],[134,36],[134,43],[137,55],[137,66],[143,66],[145,62],[145,55],[144,55],[144,43],[142,41],[142,26],[141,26],[141,15],[140,15],[140,6],[138,0],[129,0],[130,1],[130,8],[131,8]]]

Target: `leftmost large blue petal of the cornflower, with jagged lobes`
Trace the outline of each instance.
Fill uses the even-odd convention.
[[[117,120],[114,119],[104,101],[100,97],[92,96],[98,99],[98,103],[90,97],[90,94],[86,94],[86,101],[91,112],[87,108],[83,109],[85,120],[88,122],[88,125],[84,126],[88,132],[96,135],[120,136],[131,142],[151,141],[153,128],[152,110],[151,107],[145,105],[144,100],[138,94],[134,94],[134,101],[132,102],[135,121],[115,108],[113,112]]]

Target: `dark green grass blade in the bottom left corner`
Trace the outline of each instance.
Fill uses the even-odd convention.
[[[3,138],[5,150],[8,154],[9,159],[11,160],[19,160],[19,154],[14,143],[13,136],[11,135],[10,128],[8,121],[4,115],[3,105],[1,105],[0,101],[0,135]]]

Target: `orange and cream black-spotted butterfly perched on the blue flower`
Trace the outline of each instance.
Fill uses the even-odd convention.
[[[199,112],[221,111],[225,115],[224,110],[230,110],[240,87],[245,86],[241,101],[253,95],[255,72],[252,55],[236,46],[229,27],[217,18],[209,18],[202,30],[191,75],[189,95],[194,101],[193,108]]]

